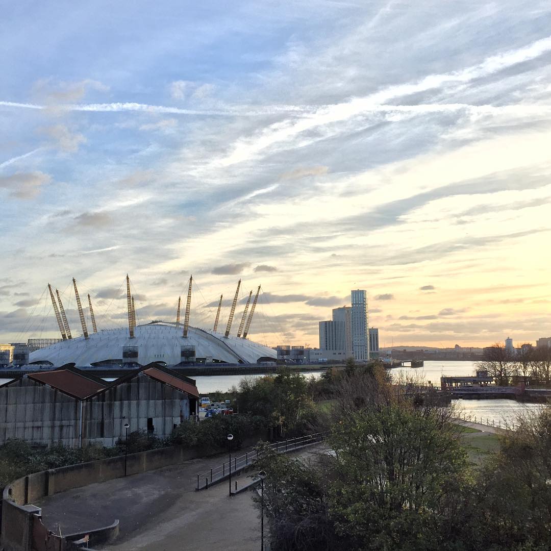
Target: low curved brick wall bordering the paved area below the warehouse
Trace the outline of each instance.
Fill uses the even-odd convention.
[[[243,442],[244,446],[251,446],[258,441],[257,436],[251,436]],[[190,459],[207,457],[224,453],[226,449],[185,450],[181,446],[160,448],[158,450],[129,453],[127,456],[127,474],[138,474],[153,471],[161,467],[168,467]],[[79,463],[29,474],[19,478],[4,488],[2,500],[2,523],[0,546],[4,551],[30,551],[33,539],[33,517],[36,510],[28,504],[39,501],[48,495],[60,493],[93,484],[105,482],[125,476],[125,456],[110,457],[100,461]],[[118,521],[111,527],[102,528],[110,533],[118,533]],[[88,532],[87,532],[88,533]],[[73,534],[77,536],[78,534]],[[76,538],[78,539],[78,538]],[[41,550],[38,550],[41,551]]]

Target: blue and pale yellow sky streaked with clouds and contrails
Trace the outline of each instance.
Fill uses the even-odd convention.
[[[0,19],[0,342],[224,326],[318,345],[368,293],[380,344],[551,334],[551,6],[18,2]],[[87,307],[85,313],[88,316]],[[89,319],[89,318],[88,318]]]

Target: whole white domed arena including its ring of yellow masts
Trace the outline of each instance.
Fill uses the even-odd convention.
[[[96,329],[90,296],[88,295],[90,305],[89,312],[94,331],[88,334],[87,323],[80,304],[75,280],[73,280],[73,284],[83,336],[72,338],[60,296],[57,294],[58,301],[56,302],[51,287],[48,284],[53,309],[61,331],[62,341],[31,352],[29,355],[29,364],[49,364],[51,366],[60,367],[65,364],[73,363],[79,367],[92,366],[109,368],[147,365],[152,362],[170,366],[189,365],[193,363],[256,364],[261,361],[273,361],[277,359],[276,351],[272,348],[245,338],[251,325],[260,286],[258,287],[255,300],[252,303],[249,316],[247,317],[252,291],[249,294],[249,300],[245,306],[239,330],[237,331],[237,335],[233,336],[230,334],[230,330],[241,280],[237,284],[230,317],[226,325],[226,330],[223,333],[216,330],[218,327],[222,296],[220,297],[214,329],[200,329],[188,325],[192,278],[190,278],[190,288],[188,290],[187,307],[183,323],[180,323],[179,301],[176,322],[153,321],[145,325],[136,325],[134,301],[130,293],[127,276],[128,326],[98,331]]]

